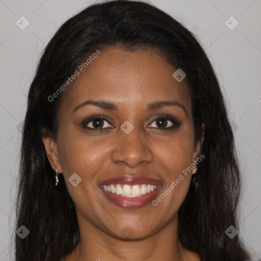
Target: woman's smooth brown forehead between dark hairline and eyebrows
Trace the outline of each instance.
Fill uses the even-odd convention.
[[[176,68],[154,49],[125,51],[111,47],[101,50],[88,67],[78,71],[61,104],[68,110],[87,99],[108,100],[128,108],[176,99],[186,103],[190,111],[185,81],[174,79]]]

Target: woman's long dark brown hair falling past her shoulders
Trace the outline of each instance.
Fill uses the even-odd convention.
[[[230,239],[225,233],[230,225],[238,228],[241,182],[225,102],[210,61],[193,34],[177,20],[147,3],[119,0],[91,5],[71,17],[41,56],[24,119],[16,206],[16,229],[24,225],[30,233],[24,239],[16,236],[16,260],[60,260],[79,243],[74,203],[63,175],[59,175],[60,186],[54,186],[55,173],[41,130],[56,137],[58,109],[66,91],[53,101],[48,97],[86,57],[109,46],[157,49],[174,68],[186,72],[195,140],[201,138],[204,125],[201,153],[205,159],[179,209],[179,239],[202,261],[249,259],[239,237]]]

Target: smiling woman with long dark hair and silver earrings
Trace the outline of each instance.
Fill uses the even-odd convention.
[[[239,195],[224,99],[192,33],[122,0],[62,25],[29,91],[17,260],[243,261]]]

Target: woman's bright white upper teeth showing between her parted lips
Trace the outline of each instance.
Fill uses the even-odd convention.
[[[140,184],[140,185],[127,185],[127,184],[108,184],[108,185],[101,185],[101,188],[103,188],[106,191],[109,191],[111,193],[116,193],[117,195],[120,195],[122,197],[140,197],[142,195],[148,194],[152,191],[154,191],[157,186],[156,185],[150,185],[150,184]]]

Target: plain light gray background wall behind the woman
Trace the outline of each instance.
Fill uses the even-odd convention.
[[[25,115],[27,93],[39,56],[61,23],[91,3],[94,1],[0,0],[0,260],[14,258],[19,124]],[[239,234],[252,251],[253,260],[261,259],[261,1],[150,3],[191,30],[215,67],[233,121],[243,172]],[[16,25],[21,16],[30,21],[24,30]],[[233,30],[225,24],[230,16],[239,22]],[[234,25],[230,20],[230,26]]]

